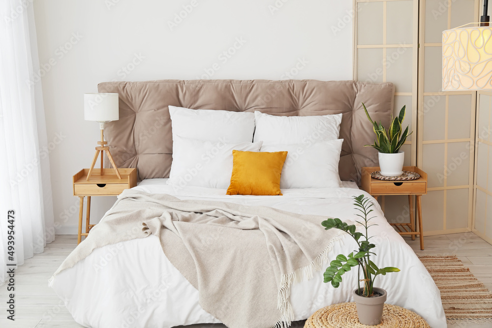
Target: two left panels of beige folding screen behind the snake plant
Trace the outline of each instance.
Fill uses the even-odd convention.
[[[382,66],[383,73],[374,82],[395,83],[395,111],[403,104],[412,109],[406,123],[414,134],[405,146],[405,161],[417,164],[429,176],[429,193],[422,197],[426,235],[470,231],[472,227],[476,93],[441,92],[441,38],[443,30],[474,22],[477,3],[356,3],[357,79],[376,78],[373,72]],[[381,203],[388,221],[409,220],[406,197],[385,197]]]

